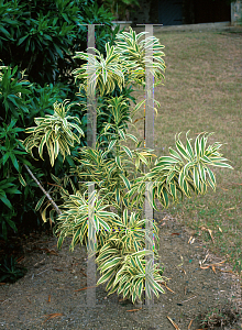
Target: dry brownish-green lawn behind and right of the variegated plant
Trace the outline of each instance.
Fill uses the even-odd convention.
[[[242,36],[216,32],[157,34],[165,45],[165,86],[155,88],[160,101],[155,119],[155,150],[167,155],[178,132],[215,132],[209,142],[227,143],[222,152],[234,167],[215,168],[217,191],[185,199],[169,212],[200,235],[215,253],[226,256],[242,271]],[[144,94],[136,92],[142,100]],[[142,117],[140,112],[136,118]],[[140,138],[143,121],[136,122]],[[183,135],[182,135],[183,136]],[[208,232],[212,230],[215,243]]]

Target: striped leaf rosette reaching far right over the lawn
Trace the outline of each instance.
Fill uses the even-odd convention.
[[[160,157],[152,170],[139,177],[133,184],[128,197],[133,198],[133,202],[143,205],[145,183],[148,183],[148,199],[155,209],[155,199],[158,199],[163,207],[168,207],[169,201],[177,201],[178,195],[190,198],[191,193],[205,195],[207,188],[216,190],[216,175],[210,166],[226,167],[233,169],[227,164],[228,161],[219,152],[221,143],[216,142],[207,146],[208,136],[200,134],[195,140],[193,148],[188,133],[186,144],[178,138],[176,139],[176,150],[169,147],[169,156]]]

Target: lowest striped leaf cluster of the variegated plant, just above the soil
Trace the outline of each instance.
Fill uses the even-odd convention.
[[[145,250],[147,219],[140,219],[135,212],[129,216],[125,209],[117,224],[106,234],[98,251],[97,263],[101,274],[98,285],[108,282],[106,289],[109,295],[117,292],[123,298],[131,298],[133,302],[141,300],[145,285],[148,297],[152,292],[158,297],[158,292],[164,293],[158,285],[158,282],[164,282],[164,277],[161,276],[158,263],[153,265],[153,260],[150,263],[145,261],[148,255],[153,256],[152,251]],[[155,241],[150,243],[157,258],[155,243],[158,243],[158,229],[155,222],[153,233]]]

